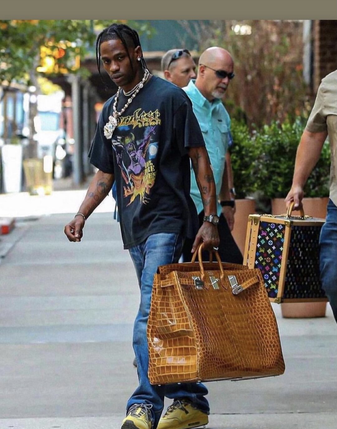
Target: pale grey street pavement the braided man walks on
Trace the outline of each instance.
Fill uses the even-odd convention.
[[[137,385],[132,324],[138,283],[109,195],[80,243],[64,225],[84,189],[0,194],[0,429],[119,429]],[[209,429],[337,426],[337,325],[277,317],[286,372],[207,383]],[[169,405],[166,402],[165,405]]]

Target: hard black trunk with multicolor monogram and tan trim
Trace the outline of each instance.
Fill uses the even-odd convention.
[[[244,265],[259,268],[271,302],[327,301],[319,279],[319,234],[324,219],[250,215]]]

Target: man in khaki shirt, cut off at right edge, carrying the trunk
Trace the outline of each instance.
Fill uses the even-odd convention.
[[[294,201],[294,208],[301,208],[304,184],[319,160],[327,136],[331,146],[330,195],[319,239],[320,271],[322,287],[337,321],[337,70],[325,76],[319,85],[298,145],[292,187],[286,196],[287,207]]]

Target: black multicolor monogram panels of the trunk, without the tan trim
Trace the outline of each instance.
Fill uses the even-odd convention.
[[[319,279],[319,226],[291,225],[283,299],[324,298]],[[286,225],[261,221],[255,267],[265,281],[268,297],[277,298]]]

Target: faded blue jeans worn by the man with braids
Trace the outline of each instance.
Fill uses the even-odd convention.
[[[140,245],[129,249],[138,277],[141,292],[139,311],[133,327],[133,350],[137,359],[139,386],[130,397],[126,410],[134,404],[152,405],[153,429],[159,422],[164,408],[164,397],[187,399],[199,410],[209,414],[208,390],[201,383],[181,383],[155,386],[147,377],[149,364],[147,347],[147,319],[150,312],[153,276],[159,265],[177,263],[181,256],[184,240],[175,233],[159,233],[149,236]]]

